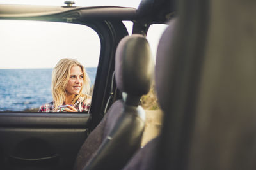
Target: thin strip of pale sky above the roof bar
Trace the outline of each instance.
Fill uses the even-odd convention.
[[[141,0],[91,0],[91,1],[84,1],[84,0],[76,0],[75,6],[124,6],[124,7],[133,7],[138,8]],[[65,6],[65,1],[63,0],[38,0],[38,1],[31,1],[31,0],[0,0],[0,4],[31,4],[31,5],[50,5],[50,6]]]

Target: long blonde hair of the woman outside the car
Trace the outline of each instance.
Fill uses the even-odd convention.
[[[72,66],[80,66],[83,72],[83,87],[79,94],[77,94],[72,100],[72,104],[76,102],[79,97],[90,99],[90,78],[86,73],[84,66],[76,59],[61,59],[52,71],[52,98],[54,101],[54,111],[58,109],[58,106],[62,105],[65,101],[67,92],[65,90],[70,77],[70,69]]]

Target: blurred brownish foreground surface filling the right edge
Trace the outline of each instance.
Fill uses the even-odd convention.
[[[197,8],[208,27],[186,169],[256,169],[256,2]]]

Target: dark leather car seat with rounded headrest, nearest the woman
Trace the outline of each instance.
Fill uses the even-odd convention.
[[[115,101],[84,142],[74,169],[122,169],[141,145],[145,111],[140,98],[152,83],[154,61],[147,39],[123,38],[116,50],[116,86],[123,99]]]

